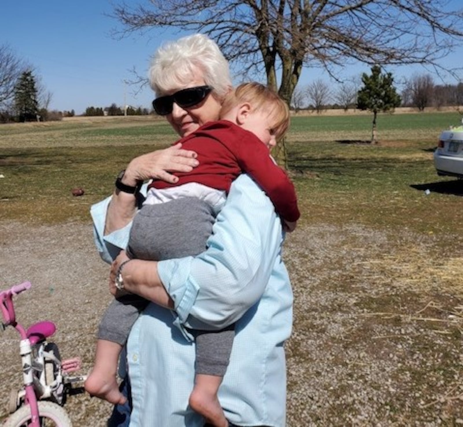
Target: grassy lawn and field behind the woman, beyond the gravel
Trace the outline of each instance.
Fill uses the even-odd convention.
[[[369,115],[293,117],[289,166],[301,222],[461,235],[460,182],[438,177],[432,163],[439,132],[459,120],[458,113],[382,114],[381,142],[373,146],[365,143]],[[0,126],[1,217],[88,221],[90,205],[112,192],[131,158],[174,138],[166,122],[153,118]],[[73,197],[74,187],[85,195]]]

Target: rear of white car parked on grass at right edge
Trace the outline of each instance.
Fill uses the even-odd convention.
[[[463,125],[451,127],[440,134],[434,151],[434,166],[438,175],[463,179]]]

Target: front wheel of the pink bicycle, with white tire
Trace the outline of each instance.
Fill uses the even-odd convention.
[[[38,402],[38,414],[41,427],[72,427],[67,412],[53,402]],[[31,425],[31,409],[22,406],[5,421],[3,427],[27,427]]]

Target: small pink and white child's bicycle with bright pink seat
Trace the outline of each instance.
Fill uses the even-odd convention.
[[[8,409],[10,416],[3,427],[71,427],[69,415],[63,408],[66,396],[75,382],[85,381],[85,376],[70,376],[80,369],[80,359],[61,360],[56,344],[47,342],[56,326],[42,321],[25,329],[16,321],[13,296],[31,288],[25,282],[0,292],[0,308],[3,316],[2,329],[14,327],[20,337],[19,352],[24,386],[12,390]]]

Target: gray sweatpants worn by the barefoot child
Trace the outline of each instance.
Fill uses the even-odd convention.
[[[197,255],[206,249],[215,221],[212,208],[196,197],[145,205],[133,220],[127,253],[156,260]],[[125,345],[131,327],[149,301],[138,295],[114,299],[101,320],[98,338]],[[198,374],[223,377],[230,358],[234,325],[220,331],[191,331]]]

